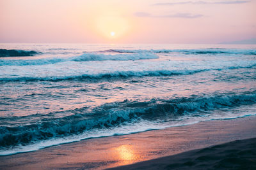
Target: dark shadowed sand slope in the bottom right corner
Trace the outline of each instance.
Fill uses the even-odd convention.
[[[110,169],[256,169],[256,138],[231,141]]]

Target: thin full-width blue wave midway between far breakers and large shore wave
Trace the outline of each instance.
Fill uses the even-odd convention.
[[[98,73],[98,74],[78,74],[73,76],[46,76],[46,77],[7,77],[0,78],[0,82],[10,81],[65,81],[65,80],[100,80],[102,78],[130,78],[130,77],[143,77],[143,76],[177,76],[177,75],[189,75],[211,70],[226,70],[226,69],[243,69],[253,68],[256,64],[250,66],[231,66],[223,68],[212,69],[181,69],[181,70],[145,70],[145,71],[113,71],[111,73]]]

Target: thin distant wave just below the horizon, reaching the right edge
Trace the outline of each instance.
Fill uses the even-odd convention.
[[[225,48],[204,48],[204,49],[184,49],[184,50],[125,50],[125,49],[109,49],[100,52],[115,52],[115,53],[141,53],[141,52],[152,52],[152,53],[184,53],[184,54],[241,54],[241,55],[256,55],[256,50],[245,50],[245,49],[225,49]]]

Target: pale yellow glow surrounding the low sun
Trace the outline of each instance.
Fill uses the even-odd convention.
[[[94,1],[93,1],[94,2]],[[90,9],[86,11],[90,22],[86,27],[92,31],[92,36],[105,42],[122,42],[131,36],[136,29],[136,20],[131,15],[131,6],[123,6],[120,1],[102,1],[102,3],[90,3]]]

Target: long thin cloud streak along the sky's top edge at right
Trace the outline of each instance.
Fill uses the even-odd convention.
[[[183,1],[177,3],[156,3],[153,5],[176,5],[176,4],[244,4],[249,3],[250,1],[216,1],[216,2],[209,2],[209,1]]]

